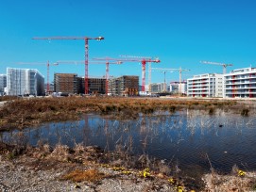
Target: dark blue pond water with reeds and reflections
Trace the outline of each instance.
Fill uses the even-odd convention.
[[[48,123],[23,132],[2,133],[5,142],[37,145],[40,140],[73,147],[98,145],[106,151],[122,146],[175,165],[177,171],[229,173],[233,165],[256,169],[256,119],[224,112],[155,113],[138,120],[112,120],[85,115],[82,120]],[[211,163],[211,164],[210,164]]]

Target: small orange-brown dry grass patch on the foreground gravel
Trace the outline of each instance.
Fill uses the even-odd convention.
[[[104,173],[99,172],[97,169],[88,169],[88,170],[79,170],[76,169],[64,176],[62,176],[62,180],[71,180],[73,182],[92,182],[96,183],[106,178]]]

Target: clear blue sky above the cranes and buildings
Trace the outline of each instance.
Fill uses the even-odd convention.
[[[33,37],[103,36],[89,41],[89,57],[158,56],[152,67],[190,69],[183,78],[222,72],[200,60],[232,63],[230,70],[256,67],[255,0],[0,0],[0,73],[7,67],[44,65],[15,62],[83,60],[83,40],[31,40]],[[60,65],[54,72],[84,75],[84,65]],[[110,74],[140,75],[139,63],[111,65]],[[102,76],[105,65],[90,65],[89,75]],[[179,72],[166,74],[179,80]],[[161,72],[152,82],[162,82]],[[147,82],[147,72],[146,72]]]

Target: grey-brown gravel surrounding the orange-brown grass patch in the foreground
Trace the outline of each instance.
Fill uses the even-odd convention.
[[[111,175],[97,183],[60,180],[61,176],[77,168],[74,165],[61,164],[56,167],[40,168],[32,157],[18,157],[14,160],[2,158],[0,155],[0,191],[177,191],[166,181],[160,179],[138,178],[136,175],[122,175],[109,168],[98,168],[101,172]],[[94,168],[94,165],[79,168]]]

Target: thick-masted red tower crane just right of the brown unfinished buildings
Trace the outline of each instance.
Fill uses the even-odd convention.
[[[145,64],[146,63],[160,63],[161,60],[159,58],[149,58],[144,56],[123,56],[126,58],[94,58],[95,60],[117,60],[117,61],[126,61],[126,62],[141,62],[142,63],[142,91],[145,91]]]

